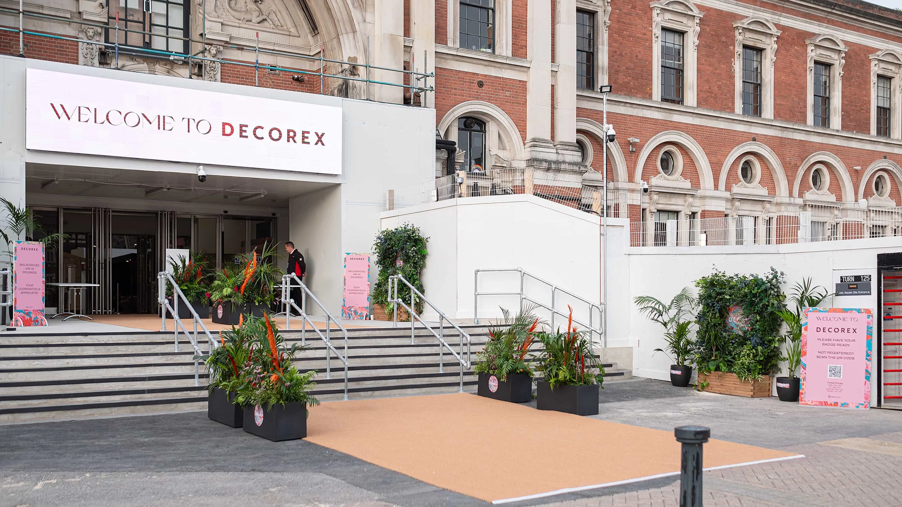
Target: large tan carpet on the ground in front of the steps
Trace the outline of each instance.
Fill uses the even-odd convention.
[[[468,393],[326,402],[310,409],[307,439],[496,503],[678,475],[680,466],[672,431]],[[794,456],[723,440],[704,445],[705,467]]]

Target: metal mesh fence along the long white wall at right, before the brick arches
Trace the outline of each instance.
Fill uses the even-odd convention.
[[[902,236],[902,207],[808,207],[746,217],[630,223],[630,246],[797,244]]]

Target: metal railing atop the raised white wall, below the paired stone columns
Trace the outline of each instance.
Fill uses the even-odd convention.
[[[550,171],[530,168],[458,172],[417,185],[392,190],[389,208],[419,206],[453,198],[529,194],[566,207],[602,216],[603,189],[567,180]],[[635,190],[608,189],[608,217],[629,216],[629,206],[639,207]]]

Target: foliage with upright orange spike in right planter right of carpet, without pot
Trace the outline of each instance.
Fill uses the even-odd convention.
[[[569,308],[569,307],[568,307]],[[536,334],[544,350],[538,355],[536,371],[552,391],[561,385],[601,385],[604,367],[595,356],[592,342],[573,325],[573,309],[567,318],[566,332]]]

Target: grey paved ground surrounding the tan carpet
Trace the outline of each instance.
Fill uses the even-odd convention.
[[[702,424],[715,438],[807,456],[705,473],[709,507],[902,506],[902,412],[800,407],[650,380],[607,383],[601,398],[600,419],[665,430]],[[537,473],[549,466],[535,461]],[[678,487],[667,478],[520,504],[676,506]],[[0,507],[188,503],[485,505],[305,441],[227,429],[203,412],[0,427]]]

